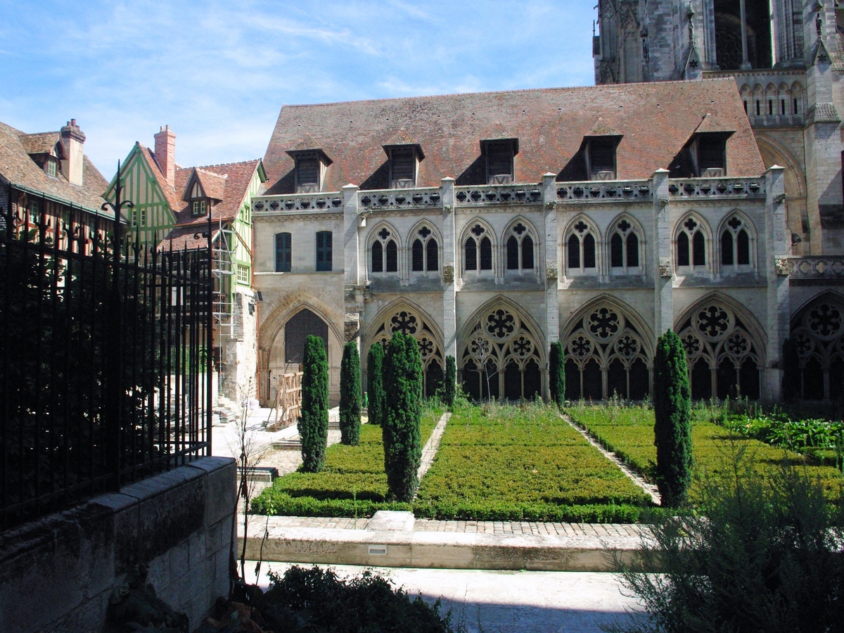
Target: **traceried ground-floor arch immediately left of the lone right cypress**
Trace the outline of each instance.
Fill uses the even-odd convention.
[[[578,309],[561,330],[566,398],[618,394],[640,400],[651,390],[653,334],[641,316],[611,295]]]

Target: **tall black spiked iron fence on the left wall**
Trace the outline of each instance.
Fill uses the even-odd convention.
[[[0,527],[210,454],[212,409],[210,240],[161,250],[118,219],[7,200]]]

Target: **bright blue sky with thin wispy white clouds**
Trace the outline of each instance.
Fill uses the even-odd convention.
[[[283,104],[592,84],[594,4],[0,0],[0,121],[76,118],[106,177],[164,124],[181,165],[257,158]]]

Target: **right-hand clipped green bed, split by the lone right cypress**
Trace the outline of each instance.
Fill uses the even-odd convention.
[[[657,448],[653,446],[652,409],[587,405],[572,406],[566,412],[610,451],[652,479],[657,460]],[[830,498],[839,497],[844,479],[836,468],[819,466],[796,452],[738,436],[722,426],[700,419],[702,417],[701,412],[693,412],[691,439],[696,474],[718,473],[725,468],[732,468],[733,453],[743,452],[744,457],[752,460],[753,468],[759,473],[781,468],[784,460],[785,463],[806,468],[809,475],[821,480]],[[692,484],[692,499],[695,498],[696,486],[697,483]]]

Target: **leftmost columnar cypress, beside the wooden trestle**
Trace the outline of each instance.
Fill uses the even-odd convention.
[[[306,472],[318,473],[325,465],[328,443],[328,362],[322,338],[308,336],[302,371],[302,413],[297,425],[302,461]]]

